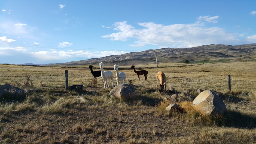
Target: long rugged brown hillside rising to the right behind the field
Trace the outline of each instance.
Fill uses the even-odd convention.
[[[252,60],[256,58],[256,43],[245,45],[203,45],[193,48],[161,48],[157,49],[157,61],[161,62],[190,62],[198,61],[236,61],[238,58]],[[50,64],[54,66],[98,65],[104,62],[106,66],[118,64],[145,65],[156,63],[156,50],[150,49],[142,52],[130,52],[122,55],[110,55],[102,58]]]

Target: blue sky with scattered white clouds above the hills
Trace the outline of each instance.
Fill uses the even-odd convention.
[[[256,43],[255,0],[0,0],[0,63]]]

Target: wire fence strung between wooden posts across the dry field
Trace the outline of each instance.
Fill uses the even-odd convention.
[[[8,76],[8,73],[2,73],[0,75],[0,84],[23,84],[25,79],[25,73],[12,73],[15,76]],[[42,74],[42,73],[30,73],[29,83],[35,87],[65,87],[65,74]],[[166,88],[174,89],[209,89],[216,91],[228,90],[227,75],[187,75],[187,74],[175,74],[166,73]],[[101,77],[97,77],[97,84],[93,84],[92,74],[84,73],[69,73],[68,85],[84,84],[84,87],[103,87],[103,81]],[[113,76],[114,86],[117,85],[116,75]],[[136,88],[156,88],[156,74],[148,74],[147,80],[144,76],[140,76],[140,81],[136,74],[127,74],[126,83],[132,84]],[[160,82],[159,82],[160,83]],[[108,81],[107,81],[108,84]],[[110,86],[112,82],[110,81]],[[249,91],[255,89],[256,79],[244,76],[231,75],[231,90]]]

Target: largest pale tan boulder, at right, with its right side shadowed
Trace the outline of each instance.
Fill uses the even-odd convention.
[[[222,115],[226,111],[226,105],[221,98],[210,90],[205,90],[194,99],[193,105],[203,114]]]

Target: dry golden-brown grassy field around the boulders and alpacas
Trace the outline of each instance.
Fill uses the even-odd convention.
[[[10,83],[25,89],[25,93],[10,91],[0,98],[0,141],[256,143],[256,62],[164,65],[145,66],[148,80],[141,76],[140,82],[132,70],[119,70],[126,73],[126,83],[131,80],[136,89],[132,100],[109,95],[112,88],[104,89],[99,78],[93,83],[88,68],[0,65],[0,84]],[[84,84],[82,92],[64,90],[65,70],[69,72],[69,85]],[[111,71],[116,85],[115,71]],[[164,101],[166,94],[156,89],[158,71],[165,73],[167,89],[181,92],[177,104],[185,113],[165,111],[171,102]],[[26,74],[30,75],[29,86],[24,84]],[[231,75],[231,92],[227,91],[227,75]],[[227,112],[211,116],[191,108],[197,89],[216,91]]]

